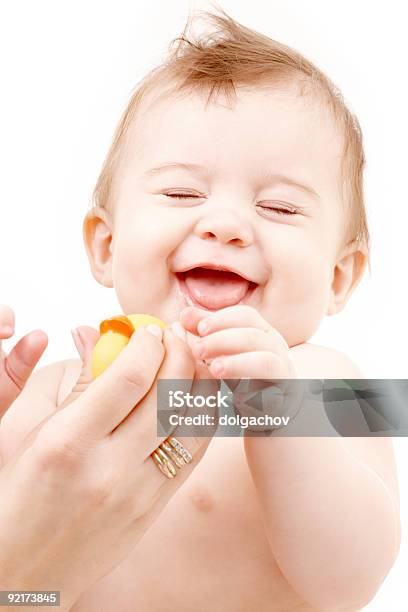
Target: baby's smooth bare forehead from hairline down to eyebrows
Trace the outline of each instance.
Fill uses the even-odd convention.
[[[301,166],[312,178],[327,174],[338,181],[342,134],[322,96],[302,95],[288,85],[241,87],[235,99],[218,96],[210,102],[204,93],[159,91],[143,102],[129,151],[140,167],[200,158],[220,172]]]

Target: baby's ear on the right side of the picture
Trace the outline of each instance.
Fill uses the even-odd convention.
[[[327,314],[343,310],[354,289],[363,277],[368,263],[367,249],[356,241],[348,243],[340,252],[333,268]]]

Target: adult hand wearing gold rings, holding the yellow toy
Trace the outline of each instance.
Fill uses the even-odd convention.
[[[182,438],[193,461],[173,479],[150,454],[156,376],[193,379],[194,359],[169,329],[140,328],[114,363],[40,423],[0,471],[0,588],[60,590],[69,610],[131,551],[203,456],[211,438]],[[214,381],[216,383],[216,381]]]

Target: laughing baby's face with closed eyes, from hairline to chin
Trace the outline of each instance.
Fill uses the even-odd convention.
[[[118,169],[104,283],[125,313],[168,323],[190,301],[246,303],[294,346],[332,308],[341,139],[318,102],[237,94],[230,107],[205,108],[198,94],[162,100],[137,118]]]

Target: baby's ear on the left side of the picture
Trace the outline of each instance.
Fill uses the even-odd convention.
[[[113,287],[112,216],[95,206],[84,219],[83,236],[92,274],[101,285]]]

